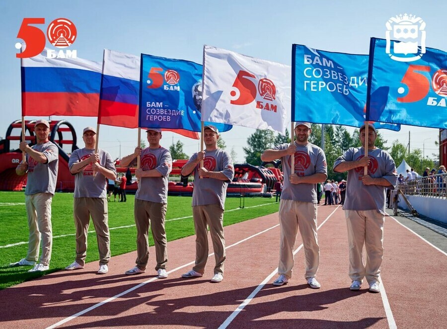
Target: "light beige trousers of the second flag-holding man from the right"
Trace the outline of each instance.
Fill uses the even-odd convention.
[[[278,273],[292,277],[294,249],[298,229],[304,246],[306,279],[315,277],[320,261],[320,247],[317,239],[317,205],[281,199],[279,220],[281,226],[280,261]]]

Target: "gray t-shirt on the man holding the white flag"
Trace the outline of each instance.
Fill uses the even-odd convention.
[[[197,159],[195,153],[187,164]],[[199,166],[194,170],[194,189],[192,206],[203,206],[207,204],[219,203],[221,209],[224,209],[226,187],[234,177],[233,162],[229,154],[221,149],[214,151],[205,151],[205,159],[203,166],[209,171],[220,171],[228,180],[220,180],[215,178],[200,178]],[[189,176],[189,175],[188,175]],[[188,177],[183,176],[183,177]]]

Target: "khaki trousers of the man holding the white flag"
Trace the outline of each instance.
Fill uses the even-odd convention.
[[[193,270],[205,273],[205,265],[208,260],[208,231],[210,227],[211,240],[213,241],[216,266],[214,274],[224,274],[225,238],[224,238],[224,210],[219,203],[194,206],[194,229],[196,231],[196,264]]]

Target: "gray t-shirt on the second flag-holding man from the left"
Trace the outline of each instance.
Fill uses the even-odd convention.
[[[95,150],[78,149],[75,150],[69,161],[69,168],[94,154]],[[116,174],[116,168],[112,157],[104,150],[99,149],[99,164],[106,169],[112,170]],[[105,198],[107,196],[107,179],[102,173],[96,172],[93,177],[93,169],[90,164],[74,175],[74,197],[75,198]]]

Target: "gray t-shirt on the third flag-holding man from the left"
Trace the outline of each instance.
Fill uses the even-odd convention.
[[[141,168],[145,171],[155,169],[161,177],[142,177],[138,185],[136,199],[156,203],[167,203],[169,173],[172,170],[171,154],[165,148],[146,148],[141,152]]]

